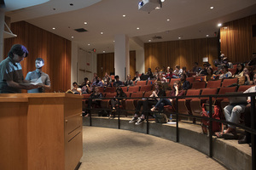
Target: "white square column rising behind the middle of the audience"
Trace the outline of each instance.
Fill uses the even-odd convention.
[[[114,74],[119,75],[120,81],[125,81],[130,73],[129,37],[124,34],[114,37]]]

